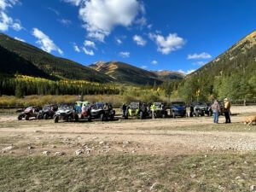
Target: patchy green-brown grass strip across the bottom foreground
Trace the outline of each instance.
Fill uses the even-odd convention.
[[[1,191],[250,191],[256,154],[0,158]]]

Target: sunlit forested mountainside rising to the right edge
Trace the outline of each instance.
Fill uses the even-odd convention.
[[[256,98],[256,31],[207,65],[189,74],[180,87],[187,100]]]

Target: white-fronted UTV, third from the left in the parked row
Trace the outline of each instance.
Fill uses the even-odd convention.
[[[76,112],[74,105],[61,105],[55,113],[55,123],[58,123],[60,119],[65,121],[79,121],[79,114]]]

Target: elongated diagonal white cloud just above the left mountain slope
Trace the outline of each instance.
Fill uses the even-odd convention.
[[[40,31],[38,28],[33,28],[32,35],[38,38],[37,44],[39,44],[41,49],[50,53],[51,51],[57,51],[59,54],[63,54],[63,51],[55,45],[55,43],[44,34],[44,32]]]

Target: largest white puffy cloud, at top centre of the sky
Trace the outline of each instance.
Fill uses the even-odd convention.
[[[138,0],[64,0],[79,6],[79,17],[89,38],[104,42],[115,26],[131,26],[144,10]],[[140,21],[145,22],[145,18]]]

